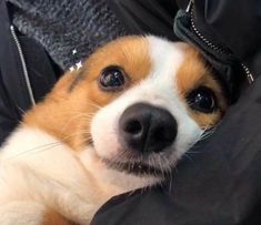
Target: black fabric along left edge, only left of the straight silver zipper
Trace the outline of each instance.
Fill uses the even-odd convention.
[[[4,1],[0,2],[0,143],[9,135],[21,117],[21,109],[30,101],[26,94],[21,96],[21,84],[18,53],[13,50],[10,23]],[[13,85],[11,85],[13,84]],[[13,91],[11,91],[13,90]]]

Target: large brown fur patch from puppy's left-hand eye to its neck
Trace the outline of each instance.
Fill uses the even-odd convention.
[[[126,89],[145,78],[151,70],[147,39],[128,37],[100,48],[79,72],[63,75],[46,100],[26,114],[24,123],[48,132],[74,150],[84,146],[91,141],[93,114],[121,94],[99,88],[99,75],[109,65],[119,65],[128,74]]]

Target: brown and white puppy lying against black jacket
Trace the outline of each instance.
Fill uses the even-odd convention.
[[[185,43],[126,37],[100,48],[0,151],[0,224],[89,224],[111,196],[161,182],[225,109]]]

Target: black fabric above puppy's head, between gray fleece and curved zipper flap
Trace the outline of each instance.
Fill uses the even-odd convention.
[[[179,40],[172,30],[178,10],[171,0],[109,0],[110,8],[129,33],[155,34]]]

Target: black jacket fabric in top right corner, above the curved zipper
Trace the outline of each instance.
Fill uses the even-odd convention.
[[[189,0],[177,0],[187,8]],[[211,42],[225,45],[250,71],[261,72],[261,1],[194,0],[197,29]]]

